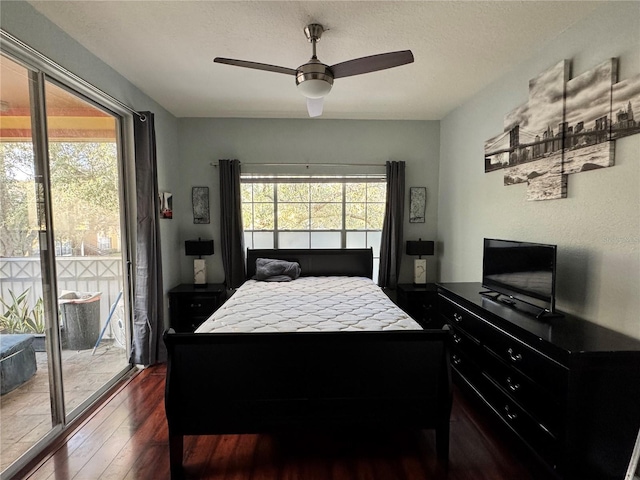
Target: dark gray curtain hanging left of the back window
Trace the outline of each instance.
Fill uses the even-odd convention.
[[[245,280],[244,233],[240,198],[240,162],[220,160],[220,235],[225,285],[237,288]]]

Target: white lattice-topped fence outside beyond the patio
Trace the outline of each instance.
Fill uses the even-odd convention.
[[[63,290],[100,292],[100,329],[109,316],[111,305],[123,286],[120,257],[57,257],[58,295]],[[0,295],[11,303],[11,290],[16,296],[30,288],[29,305],[42,297],[40,258],[0,258]],[[0,307],[1,308],[1,307]],[[109,336],[109,331],[105,336]]]

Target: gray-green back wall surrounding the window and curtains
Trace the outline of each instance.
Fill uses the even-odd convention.
[[[174,193],[174,221],[179,222],[180,238],[172,245],[184,252],[184,240],[213,238],[216,254],[207,258],[208,281],[224,279],[220,245],[220,202],[217,169],[210,166],[219,159],[238,159],[249,163],[346,163],[380,164],[404,160],[407,164],[405,240],[434,239],[438,198],[439,122],[367,120],[265,120],[183,118],[178,122],[180,173],[182,181]],[[246,168],[249,168],[248,166]],[[251,167],[255,169],[255,167]],[[269,167],[275,171],[274,167]],[[311,167],[313,170],[313,167]],[[305,173],[305,168],[299,169]],[[318,170],[315,169],[317,172]],[[378,170],[384,172],[384,168]],[[343,168],[334,173],[344,172]],[[211,224],[194,225],[191,187],[208,186]],[[409,187],[427,187],[426,222],[408,220]],[[413,257],[402,262],[400,279],[411,282]],[[433,257],[427,260],[434,265]],[[429,280],[435,281],[435,268]],[[182,260],[181,279],[191,281],[193,261]]]

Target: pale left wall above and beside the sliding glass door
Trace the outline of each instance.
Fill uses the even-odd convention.
[[[0,2],[0,26],[129,107],[138,111],[153,112],[156,126],[158,185],[161,191],[174,189],[179,179],[172,175],[172,163],[178,158],[177,120],[173,115],[69,37],[27,2]],[[178,283],[177,256],[164,247],[165,244],[175,243],[174,238],[178,235],[177,222],[162,221],[160,232],[163,247],[164,290],[167,291]]]

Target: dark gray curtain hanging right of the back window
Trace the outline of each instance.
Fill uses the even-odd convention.
[[[402,258],[404,222],[404,162],[387,162],[387,204],[380,244],[378,285],[396,288]]]

